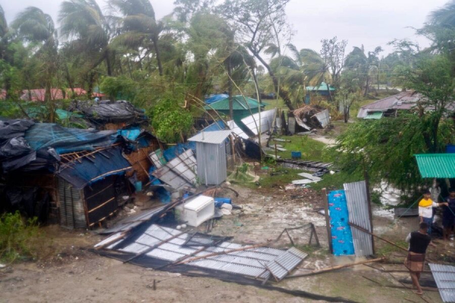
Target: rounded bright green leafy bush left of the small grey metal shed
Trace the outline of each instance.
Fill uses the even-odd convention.
[[[175,99],[163,98],[150,110],[149,117],[158,138],[168,143],[180,142],[190,134],[193,117]]]

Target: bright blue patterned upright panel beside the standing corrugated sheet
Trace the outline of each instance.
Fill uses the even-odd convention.
[[[344,190],[331,191],[328,198],[333,254],[335,256],[354,255],[346,193]]]

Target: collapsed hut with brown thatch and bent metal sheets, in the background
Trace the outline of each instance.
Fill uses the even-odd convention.
[[[291,134],[326,128],[329,124],[329,110],[319,106],[305,105],[288,114],[288,129]]]

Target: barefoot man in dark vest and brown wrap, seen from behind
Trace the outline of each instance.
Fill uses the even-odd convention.
[[[409,233],[406,237],[406,242],[409,243],[409,249],[406,260],[404,260],[404,266],[409,270],[413,285],[417,288],[417,294],[423,294],[419,279],[420,273],[424,269],[427,247],[428,245],[436,246],[431,242],[431,238],[427,234],[428,227],[427,223],[421,222],[420,229]]]

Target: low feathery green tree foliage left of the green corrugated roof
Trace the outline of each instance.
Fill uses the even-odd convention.
[[[425,128],[425,120],[416,114],[361,120],[349,125],[330,153],[343,172],[361,174],[367,169],[373,183],[385,179],[401,189],[415,189],[422,179],[414,155],[428,150],[422,136]],[[450,140],[453,122],[443,120],[439,128],[442,145]]]

